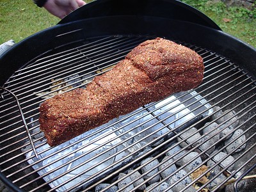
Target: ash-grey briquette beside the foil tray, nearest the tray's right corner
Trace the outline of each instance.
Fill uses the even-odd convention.
[[[187,131],[180,134],[180,137],[178,138],[178,141],[179,142],[183,141],[182,143],[180,143],[180,147],[186,147],[186,146],[188,146],[188,143],[193,143],[193,146],[198,145],[198,143],[201,142],[201,140],[198,140],[199,138],[201,138],[201,134],[197,131],[198,130],[195,127],[191,127]]]

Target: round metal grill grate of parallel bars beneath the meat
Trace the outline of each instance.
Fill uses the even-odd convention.
[[[3,90],[0,102],[1,172],[26,191],[95,191],[95,187],[100,183],[110,184],[105,189],[119,186],[118,191],[122,191],[129,190],[131,184],[143,177],[144,181],[132,189],[140,191],[141,186],[147,184],[148,187],[148,182],[158,177],[157,175],[163,174],[173,164],[184,161],[184,157],[189,153],[196,152],[196,155],[186,163],[177,165],[177,170],[167,177],[162,176],[156,186],[163,186],[167,182],[168,187],[164,191],[174,190],[173,187],[179,182],[188,177],[191,179],[191,173],[212,161],[212,165],[208,166],[204,174],[188,182],[180,191],[191,188],[196,191],[195,184],[198,184],[198,180],[206,173],[210,176],[207,176],[204,184],[198,186],[197,191],[205,188],[217,191],[223,188],[228,180],[236,178],[237,173],[243,173],[248,166],[252,166],[256,156],[255,81],[239,67],[239,63],[232,63],[216,52],[184,42],[179,43],[195,50],[204,58],[204,83],[198,88],[172,95],[164,102],[148,104],[59,147],[50,148],[47,145],[44,135],[39,130],[40,103],[56,93],[67,92],[77,87],[84,88],[93,77],[110,70],[111,66],[122,60],[127,52],[148,38],[152,37],[92,38],[79,42],[78,45],[76,42],[74,45],[47,52],[17,70],[4,84],[4,88],[19,99],[38,158],[31,148],[29,134],[26,132],[15,99]],[[221,111],[224,112],[218,115]],[[223,119],[232,111],[236,111],[236,114],[228,116],[217,127],[203,134],[205,127]],[[216,115],[218,117],[212,120],[212,116]],[[216,141],[213,144],[215,150],[210,153],[212,145],[205,148],[204,144],[228,129],[230,125],[234,125],[237,120],[239,125],[234,126],[231,132]],[[207,122],[209,124],[205,125]],[[191,127],[195,127],[196,131],[184,134],[188,133]],[[236,136],[234,132],[240,129],[243,132]],[[198,134],[199,137],[190,140]],[[228,135],[232,134],[232,140],[226,140]],[[237,143],[242,136],[244,140],[227,151],[227,147],[234,142]],[[180,145],[184,146],[166,156],[171,149]],[[243,150],[236,152],[241,147]],[[227,152],[225,156],[216,159],[216,154],[223,151]],[[224,163],[228,156],[234,156],[234,159]],[[200,163],[170,183],[173,175],[186,169],[198,158],[202,159]],[[150,160],[141,164],[145,159]],[[170,160],[172,163],[166,164]],[[152,165],[156,161],[158,163]],[[147,165],[152,167],[141,172],[141,168]],[[212,174],[218,167],[220,172]],[[157,172],[152,173],[154,170]],[[120,186],[124,179],[130,178],[137,171],[141,173],[140,177],[132,179],[132,182],[125,186]],[[126,175],[120,179],[120,173]],[[225,175],[225,178],[216,182],[220,175]],[[217,184],[211,186],[215,182]]]

